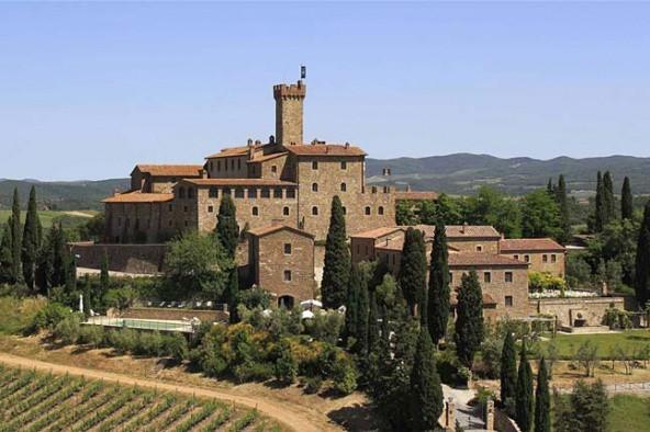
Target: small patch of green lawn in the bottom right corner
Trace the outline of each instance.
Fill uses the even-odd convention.
[[[650,397],[616,395],[610,399],[609,432],[647,431],[650,429]]]

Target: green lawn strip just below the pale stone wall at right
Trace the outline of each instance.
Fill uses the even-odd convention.
[[[606,359],[609,356],[610,350],[615,345],[619,345],[627,351],[650,344],[650,331],[642,329],[628,330],[619,333],[558,334],[556,337],[558,349],[562,357],[569,357],[571,355],[572,344],[576,351],[578,348],[587,340],[598,346],[598,356],[601,356],[601,359]],[[548,341],[543,341],[541,342],[541,345],[546,349],[548,343]]]

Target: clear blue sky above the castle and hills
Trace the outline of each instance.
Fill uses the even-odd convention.
[[[650,156],[650,3],[0,3],[0,178],[127,177],[274,133],[374,158]]]

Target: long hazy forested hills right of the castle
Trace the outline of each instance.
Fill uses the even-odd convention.
[[[542,187],[550,177],[564,174],[569,190],[595,191],[596,172],[609,170],[615,191],[625,175],[630,177],[635,194],[650,194],[650,158],[609,156],[550,160],[531,158],[501,159],[489,155],[455,154],[426,158],[367,159],[370,183],[384,182],[382,168],[391,169],[391,182],[413,190],[471,194],[480,185],[496,186],[511,194],[523,194]]]

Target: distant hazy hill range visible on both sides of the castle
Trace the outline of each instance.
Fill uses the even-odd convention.
[[[383,177],[382,169],[391,175]],[[650,158],[609,156],[604,158],[550,160],[531,158],[502,159],[489,155],[456,154],[427,158],[367,159],[366,173],[370,184],[386,182],[404,189],[439,191],[449,194],[472,194],[483,184],[509,194],[524,194],[545,187],[550,177],[557,181],[564,174],[569,190],[589,195],[596,187],[596,172],[612,171],[616,191],[628,175],[635,194],[650,194]],[[32,185],[36,186],[38,204],[49,209],[101,209],[101,200],[119,189],[130,187],[128,179],[99,181],[42,182],[38,180],[0,179],[0,209],[11,207],[13,189],[18,186],[23,206]]]

